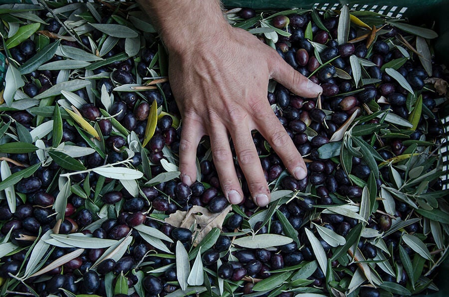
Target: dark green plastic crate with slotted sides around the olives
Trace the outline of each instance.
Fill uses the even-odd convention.
[[[67,2],[86,1],[93,2],[93,0],[68,0]],[[121,1],[125,2],[126,0]],[[36,0],[0,0],[0,4],[20,2],[38,3]],[[251,7],[256,10],[282,10],[293,7],[339,10],[342,4],[347,4],[350,10],[369,10],[391,17],[408,18],[410,23],[417,25],[426,24],[427,27],[433,28],[439,34],[434,45],[435,55],[437,61],[449,65],[448,0],[328,0],[321,3],[307,0],[222,0],[222,2],[226,8]],[[443,189],[446,189],[449,193],[449,104],[446,104],[440,110],[440,113],[446,131],[441,148],[444,169],[444,175],[442,176]],[[440,291],[431,295],[418,296],[439,297],[449,295],[449,284],[445,275],[449,272],[449,261],[446,260],[439,269],[440,273],[435,279],[435,283]]]

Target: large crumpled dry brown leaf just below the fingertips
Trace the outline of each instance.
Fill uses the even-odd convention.
[[[222,212],[213,213],[207,208],[195,205],[189,211],[178,210],[172,213],[164,222],[175,227],[188,229],[195,224],[194,233],[198,232],[198,236],[194,242],[194,246],[196,246],[212,228],[222,229],[223,221],[231,208],[231,205],[229,205]]]

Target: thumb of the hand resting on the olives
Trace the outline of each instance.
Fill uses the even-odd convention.
[[[323,88],[294,70],[277,53],[276,56],[277,58],[271,65],[271,76],[278,83],[289,89],[290,92],[306,98],[317,97],[323,92]]]

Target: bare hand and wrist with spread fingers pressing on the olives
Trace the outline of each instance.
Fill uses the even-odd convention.
[[[253,201],[265,206],[270,191],[252,141],[257,130],[296,179],[307,168],[266,98],[268,80],[292,93],[317,97],[322,88],[288,65],[279,54],[243,29],[230,26],[217,0],[139,0],[162,35],[169,54],[169,80],[181,112],[181,180],[196,179],[196,152],[208,135],[224,195],[243,199],[229,136]]]

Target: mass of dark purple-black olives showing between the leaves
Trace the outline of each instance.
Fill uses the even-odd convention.
[[[108,12],[110,13],[110,12]],[[255,16],[255,11],[250,8],[243,8],[239,12],[242,19],[249,19]],[[42,15],[44,17],[44,15]],[[372,48],[368,50],[364,41],[356,43],[338,44],[337,25],[338,17],[321,17],[321,21],[326,30],[317,26],[310,15],[310,12],[303,14],[277,15],[272,18],[271,24],[276,28],[288,30],[291,36],[279,36],[276,43],[276,49],[294,69],[305,76],[310,76],[310,80],[320,84],[323,87],[323,94],[320,102],[317,98],[305,99],[291,94],[288,89],[277,85],[274,92],[269,92],[267,100],[270,104],[277,106],[276,116],[284,126],[288,135],[291,137],[294,145],[307,162],[308,176],[302,180],[296,180],[289,175],[281,174],[285,171],[282,160],[266,146],[266,142],[258,133],[253,134],[254,145],[259,153],[263,155],[260,158],[265,178],[268,182],[276,181],[281,177],[279,189],[291,191],[304,191],[312,189],[313,195],[302,196],[293,199],[286,204],[280,205],[278,211],[282,214],[274,214],[269,224],[263,225],[262,221],[257,222],[253,229],[257,234],[278,234],[286,235],[282,219],[287,219],[288,223],[298,232],[298,240],[302,246],[298,246],[296,241],[271,249],[242,249],[231,246],[232,234],[248,227],[246,219],[236,213],[229,213],[223,224],[222,234],[215,242],[214,246],[202,251],[203,265],[217,271],[218,277],[241,285],[236,292],[242,294],[252,294],[254,286],[253,280],[266,279],[273,275],[272,271],[284,267],[301,264],[303,261],[315,260],[315,255],[309,242],[305,229],[312,230],[328,258],[332,257],[331,246],[318,234],[316,228],[309,227],[307,222],[312,219],[316,224],[320,224],[335,233],[346,237],[352,228],[359,222],[357,219],[346,217],[340,214],[321,214],[313,216],[319,206],[339,204],[339,198],[349,198],[353,201],[360,201],[362,196],[362,187],[356,185],[348,174],[352,174],[362,180],[367,180],[371,174],[370,166],[364,158],[352,157],[352,167],[350,172],[346,172],[343,167],[334,159],[320,158],[318,149],[330,142],[334,133],[353,115],[355,112],[363,112],[363,104],[371,101],[377,101],[381,96],[386,98],[387,103],[380,104],[381,109],[391,109],[395,114],[404,119],[408,119],[409,111],[406,107],[408,91],[397,83],[391,76],[381,70],[381,67],[389,61],[404,57],[398,49],[390,49],[386,42],[388,38],[396,36],[398,29],[393,26],[386,26],[386,33],[379,35],[373,43]],[[311,22],[313,33],[313,42],[325,45],[319,58],[315,56],[314,46],[305,38],[304,31],[307,24]],[[60,23],[55,19],[48,19],[45,29],[49,32],[57,33],[60,29]],[[403,33],[403,32],[402,32]],[[101,38],[102,33],[94,30],[89,33],[94,40]],[[354,27],[349,30],[349,40],[356,38],[357,31]],[[154,37],[153,37],[154,38]],[[260,39],[263,39],[260,37]],[[90,41],[86,35],[80,36],[80,42],[62,40],[61,44],[66,46],[81,48],[90,46]],[[114,56],[125,49],[124,39],[121,39],[114,48],[108,52],[104,58]],[[19,64],[23,64],[27,59],[35,54],[35,44],[31,39],[27,39],[20,45],[11,48],[10,56]],[[148,67],[157,52],[157,44],[142,49],[138,57],[125,58],[122,61],[110,63],[93,70],[95,75],[99,75],[95,80],[97,90],[105,88],[109,95],[112,95],[114,101],[108,113],[111,117],[105,117],[100,109],[105,109],[100,100],[91,101],[88,92],[83,88],[74,93],[80,96],[85,102],[79,111],[83,118],[92,124],[97,123],[105,143],[104,156],[98,152],[78,157],[86,168],[96,168],[103,164],[112,164],[125,160],[128,156],[124,148],[128,146],[127,138],[117,132],[114,128],[114,118],[121,126],[129,132],[133,131],[140,142],[143,143],[147,128],[147,120],[150,114],[150,106],[153,102],[157,106],[166,106],[166,112],[170,115],[164,115],[159,118],[154,135],[148,142],[144,151],[152,165],[151,174],[156,176],[165,172],[161,160],[167,156],[163,149],[169,148],[172,153],[179,152],[179,141],[181,128],[174,125],[174,118],[179,118],[179,111],[170,90],[169,83],[163,83],[162,93],[159,90],[128,91],[118,92],[114,88],[120,85],[135,83],[136,76],[145,77],[149,75]],[[337,69],[352,75],[352,68],[349,57],[355,55],[371,61],[374,66],[367,67],[367,75],[372,79],[378,79],[379,82],[364,85],[358,92],[352,81],[337,76]],[[63,57],[54,55],[50,61],[61,60]],[[324,67],[322,63],[331,61]],[[418,91],[422,91],[423,104],[434,112],[435,119],[421,119],[420,124],[426,122],[426,130],[417,129],[410,134],[410,140],[423,140],[425,136],[427,141],[439,142],[439,138],[444,134],[444,129],[438,120],[436,109],[436,95],[433,92],[423,89],[425,80],[428,78],[427,72],[419,64],[419,59],[410,59],[398,69],[409,84]],[[320,68],[320,69],[318,69]],[[101,76],[101,74],[105,74]],[[49,89],[56,84],[58,71],[56,70],[35,70],[26,75],[28,82],[22,87],[22,91],[29,97]],[[445,78],[445,73],[440,65],[433,65],[433,77]],[[346,94],[346,95],[345,95]],[[56,99],[58,99],[57,97]],[[329,112],[325,112],[329,111]],[[22,125],[29,131],[36,124],[34,115],[27,111],[6,111],[0,114],[4,121],[8,117],[14,119],[11,125]],[[18,124],[16,124],[18,123]],[[378,124],[378,119],[372,119],[370,124]],[[89,144],[81,137],[71,121],[63,120],[62,142],[74,144],[79,147],[89,147]],[[15,126],[17,127],[17,126]],[[176,128],[175,128],[176,127]],[[423,127],[419,125],[418,127]],[[311,136],[312,135],[312,136]],[[367,142],[370,136],[363,136]],[[51,147],[51,142],[42,140],[47,147]],[[382,158],[391,159],[404,153],[407,146],[403,144],[402,139],[382,138],[373,146]],[[157,248],[146,242],[140,233],[134,228],[144,224],[145,226],[156,228],[165,235],[169,236],[175,244],[165,243],[167,248],[175,253],[176,242],[180,241],[187,251],[192,248],[194,234],[186,228],[175,228],[174,226],[163,223],[154,218],[150,218],[152,211],[158,214],[170,215],[177,211],[188,211],[191,207],[197,205],[207,207],[212,213],[222,212],[228,206],[220,188],[220,181],[214,168],[213,161],[208,160],[206,156],[207,143],[202,143],[197,151],[200,160],[201,181],[193,183],[191,186],[181,182],[179,178],[160,182],[155,186],[144,185],[139,182],[140,190],[143,195],[134,197],[121,187],[115,187],[106,192],[102,192],[99,199],[95,200],[97,207],[103,205],[121,205],[116,217],[106,219],[96,229],[89,230],[85,228],[99,219],[95,211],[88,206],[96,198],[94,191],[86,199],[75,194],[71,194],[67,201],[64,219],[57,222],[55,211],[52,205],[55,202],[57,191],[57,177],[62,168],[55,162],[48,166],[41,166],[30,177],[21,179],[15,184],[15,190],[23,194],[26,199],[16,199],[16,210],[11,213],[7,202],[0,201],[0,226],[1,235],[10,234],[10,241],[21,247],[28,247],[35,240],[35,236],[53,229],[59,234],[72,234],[81,232],[91,234],[94,238],[120,240],[131,233],[133,236],[132,244],[129,246],[124,256],[115,261],[107,259],[93,267],[93,264],[104,254],[104,248],[85,249],[77,258],[57,267],[42,277],[33,277],[26,280],[28,287],[18,284],[15,287],[16,292],[35,293],[45,296],[49,294],[62,294],[59,288],[63,288],[72,293],[106,295],[105,275],[113,274],[113,286],[118,278],[123,274],[127,278],[128,287],[135,286],[139,279],[133,273],[135,269],[144,271],[145,278],[142,285],[147,292],[147,296],[165,296],[180,289],[177,283],[176,268],[167,268],[165,271],[155,274],[147,274],[151,270],[162,268],[175,264],[176,260],[171,257],[160,257]],[[14,161],[8,163],[12,173],[18,172],[24,168],[22,165],[33,165],[39,162],[35,153],[8,153],[7,157]],[[21,165],[18,165],[21,164]],[[142,155],[134,154],[132,157],[132,166],[142,170]],[[244,176],[235,164],[237,176],[241,180],[244,199],[238,205],[242,213],[250,217],[259,209],[250,198],[247,183]],[[430,169],[429,169],[430,170]],[[404,178],[405,172],[399,171]],[[89,181],[91,188],[95,188],[99,175],[95,172],[77,173],[70,176],[73,184],[77,183],[83,187],[86,180]],[[391,181],[388,167],[380,169],[380,176],[376,179],[378,190],[382,184]],[[112,179],[106,178],[106,182]],[[441,179],[433,182],[430,191],[442,188]],[[404,202],[396,201],[396,213],[394,216],[387,215],[383,211],[382,205],[379,205],[381,212],[375,212],[368,219],[367,227],[388,231],[392,226],[392,219],[402,218],[412,214],[412,209]],[[280,217],[282,216],[282,218]],[[416,222],[405,228],[407,232],[423,232],[422,226]],[[25,236],[25,240],[23,240]],[[399,259],[401,232],[396,231],[384,238],[386,245],[393,251],[393,257]],[[427,239],[428,242],[432,238]],[[413,255],[414,251],[407,245],[401,245],[408,254]],[[358,247],[363,256],[372,260],[376,258],[380,251],[368,240],[361,238]],[[76,248],[59,248],[47,251],[47,260],[44,266],[55,259],[73,252]],[[0,277],[7,278],[9,274],[17,274],[22,266],[22,262],[27,261],[28,249],[19,250],[12,255],[1,258]],[[48,254],[49,253],[49,254]],[[221,265],[218,265],[221,260]],[[145,265],[139,266],[142,262]],[[344,267],[338,261],[331,263],[340,279],[343,279],[356,271],[357,265],[351,264]],[[345,269],[343,269],[345,268]],[[381,275],[384,281],[399,283],[405,286],[407,283],[407,274],[404,271],[403,277],[398,281],[389,274],[384,273],[379,268],[376,271]],[[217,286],[217,279],[211,275],[209,283]],[[313,281],[310,286],[323,288],[326,290],[326,276],[318,267],[316,271],[308,277]],[[260,295],[268,296],[269,293]],[[361,296],[380,296],[378,289],[362,287]],[[119,295],[116,295],[119,296]],[[132,296],[138,296],[134,293]],[[292,292],[283,292],[279,296],[291,297]]]

